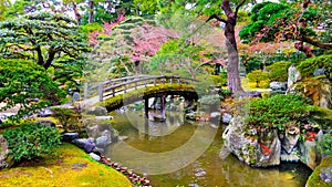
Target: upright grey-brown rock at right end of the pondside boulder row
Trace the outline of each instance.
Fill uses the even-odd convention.
[[[320,158],[320,153],[317,150],[315,141],[305,141],[300,143],[300,160],[305,164],[311,169],[314,169],[318,166],[318,160]]]

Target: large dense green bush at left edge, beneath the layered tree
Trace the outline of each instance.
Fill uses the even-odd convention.
[[[0,103],[6,104],[0,111],[19,104],[14,117],[22,117],[59,102],[63,96],[42,66],[32,61],[0,59]]]

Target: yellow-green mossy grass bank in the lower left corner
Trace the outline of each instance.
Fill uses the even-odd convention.
[[[66,143],[40,162],[0,170],[0,181],[1,187],[132,186],[121,173],[93,160],[82,149]]]

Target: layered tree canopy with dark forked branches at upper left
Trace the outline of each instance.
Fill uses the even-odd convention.
[[[56,59],[81,60],[89,52],[85,37],[60,14],[38,13],[0,23],[0,58],[33,60],[49,69]]]

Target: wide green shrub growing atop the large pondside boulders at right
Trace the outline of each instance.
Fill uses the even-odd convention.
[[[314,106],[300,95],[273,95],[266,100],[255,100],[249,105],[248,124],[256,127],[277,127],[283,131],[289,124],[308,122]]]

